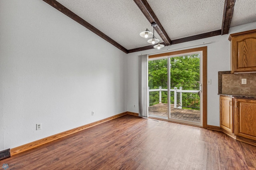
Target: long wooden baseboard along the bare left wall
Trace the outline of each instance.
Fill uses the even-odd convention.
[[[100,121],[96,121],[96,122],[93,122],[93,123],[89,123],[87,125],[84,125],[84,126],[81,126],[81,127],[77,127],[77,128],[73,128],[71,130],[67,130],[65,132],[61,132],[61,133],[58,133],[58,134],[54,134],[52,136],[48,136],[46,138],[42,138],[40,140],[36,140],[34,142],[30,142],[28,144],[24,144],[22,146],[18,146],[16,148],[12,148],[11,149],[11,156],[15,155],[15,154],[18,154],[18,153],[21,153],[21,152],[24,152],[26,150],[30,150],[32,148],[35,148],[35,147],[38,147],[38,146],[41,146],[43,144],[46,144],[46,143],[49,143],[49,142],[52,142],[54,140],[57,140],[59,138],[63,138],[65,136],[68,136],[70,134],[74,134],[76,132],[79,132],[81,130],[84,130],[86,128],[89,128],[89,127],[93,127],[95,125],[99,125],[101,123],[104,123],[104,122],[107,122],[107,121],[110,121],[112,119],[116,119],[118,117],[121,117],[121,116],[124,116],[124,115],[127,115],[128,113],[127,112],[124,112],[124,113],[120,113],[118,115],[114,115],[112,117],[108,117],[106,119],[102,119]]]

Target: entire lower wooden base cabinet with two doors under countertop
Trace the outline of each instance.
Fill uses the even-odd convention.
[[[256,146],[256,100],[220,96],[220,128],[233,138]]]

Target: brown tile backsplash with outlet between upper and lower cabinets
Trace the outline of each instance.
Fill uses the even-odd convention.
[[[220,77],[220,73],[222,73],[222,77]],[[256,95],[256,73],[231,74],[220,71],[219,81],[220,78],[222,82],[219,82],[219,88],[221,84],[222,94]],[[242,84],[242,79],[246,79],[247,83]]]

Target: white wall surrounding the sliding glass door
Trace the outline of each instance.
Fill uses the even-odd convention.
[[[251,24],[245,24],[230,28],[229,34],[236,32],[242,32],[247,30],[256,29],[256,22]],[[195,40],[191,42],[185,42],[180,44],[171,45],[162,48],[162,53],[167,49],[176,49],[182,47],[188,47],[203,42],[212,42],[207,44],[207,79],[212,79],[212,84],[207,85],[207,124],[219,126],[219,96],[218,94],[218,71],[230,70],[230,42],[228,41],[229,35],[214,36],[210,38],[204,38],[201,40]],[[206,45],[199,45],[201,47]],[[188,47],[195,48],[195,47]],[[188,49],[183,48],[183,49]],[[177,49],[178,51],[182,49]],[[138,55],[150,54],[157,52],[157,49],[150,49],[146,51],[140,51],[136,53],[128,54],[128,75],[127,75],[127,109],[128,111],[138,113],[138,107],[134,108],[134,105],[138,106]]]

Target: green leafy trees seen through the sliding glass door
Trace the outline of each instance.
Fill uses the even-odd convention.
[[[185,55],[170,58],[170,86],[182,87],[184,90],[198,90],[200,81],[200,55]],[[148,62],[148,86],[150,89],[167,89],[167,59],[158,59]],[[172,93],[172,92],[171,92]],[[186,95],[185,93],[183,95]],[[182,95],[182,96],[183,96]],[[171,94],[171,103],[174,101]],[[150,105],[159,102],[159,93],[150,92]],[[184,96],[183,100],[187,97]],[[182,101],[183,101],[182,100]],[[167,103],[167,93],[162,91],[162,102]],[[199,103],[197,103],[199,105]],[[197,107],[197,106],[196,106]]]

